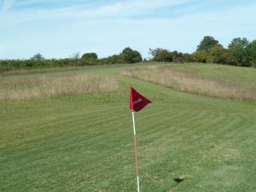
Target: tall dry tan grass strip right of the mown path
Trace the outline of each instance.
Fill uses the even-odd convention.
[[[256,100],[256,85],[232,84],[219,79],[202,78],[195,74],[177,72],[170,67],[130,69],[121,73],[131,78],[143,79],[196,95]]]

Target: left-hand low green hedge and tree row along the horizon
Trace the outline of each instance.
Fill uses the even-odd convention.
[[[50,68],[50,67],[81,67],[90,65],[124,64],[143,61],[142,55],[131,48],[125,48],[119,55],[98,58],[96,53],[79,53],[65,59],[45,59],[43,55],[36,54],[26,60],[0,60],[0,72],[14,69]]]

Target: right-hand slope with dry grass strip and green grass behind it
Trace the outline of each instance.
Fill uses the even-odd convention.
[[[256,70],[252,68],[174,64],[126,69],[122,74],[195,95],[256,101]]]

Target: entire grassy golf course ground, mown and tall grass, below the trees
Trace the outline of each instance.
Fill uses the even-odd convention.
[[[132,85],[152,102],[135,113],[141,191],[255,192],[255,84],[201,63],[1,73],[0,191],[137,191]]]

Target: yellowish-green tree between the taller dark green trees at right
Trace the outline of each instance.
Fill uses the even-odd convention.
[[[214,63],[227,63],[228,51],[224,49],[222,45],[214,45],[210,51],[210,55],[212,57],[212,62]]]

